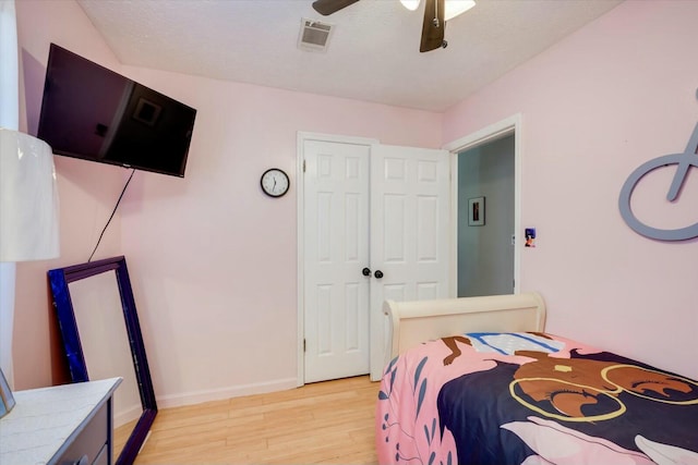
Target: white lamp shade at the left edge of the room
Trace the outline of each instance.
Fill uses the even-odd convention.
[[[0,261],[60,253],[58,186],[51,147],[0,127]]]

